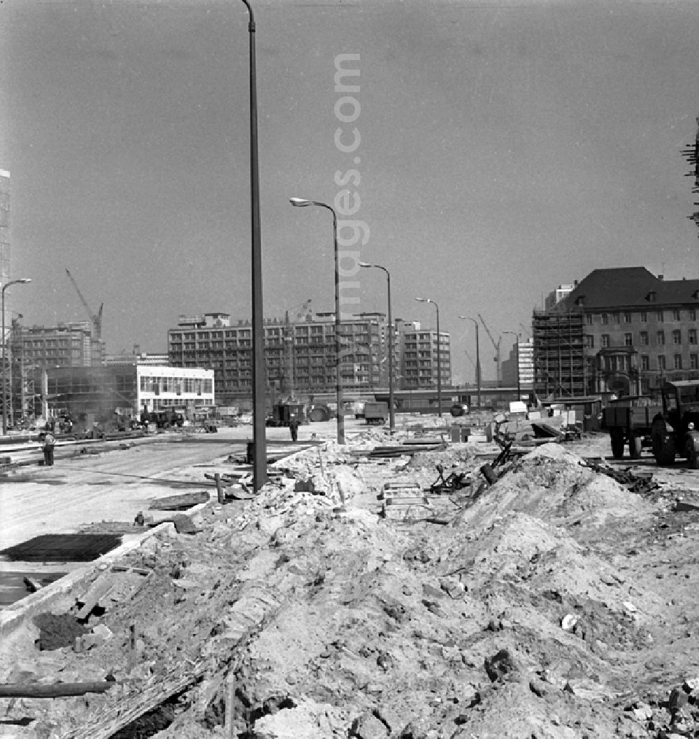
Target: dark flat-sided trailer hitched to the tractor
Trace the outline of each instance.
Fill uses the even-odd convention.
[[[651,446],[653,419],[663,406],[645,395],[627,395],[612,401],[602,411],[602,428],[609,432],[612,457],[624,457],[624,446],[629,445],[629,457],[637,460],[644,446]]]

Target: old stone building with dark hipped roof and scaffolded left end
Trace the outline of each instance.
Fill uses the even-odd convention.
[[[540,395],[647,394],[699,378],[699,279],[642,267],[592,271],[533,316]]]

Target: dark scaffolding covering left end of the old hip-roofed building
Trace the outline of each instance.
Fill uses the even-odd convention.
[[[534,311],[534,389],[537,395],[564,398],[590,392],[584,323],[584,313]]]

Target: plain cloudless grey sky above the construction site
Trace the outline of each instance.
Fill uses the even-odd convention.
[[[351,310],[385,312],[385,274],[352,270],[383,265],[395,318],[434,327],[415,298],[439,305],[456,381],[475,359],[459,316],[505,358],[504,332],[595,268],[699,278],[695,0],[251,5],[266,316],[334,308],[332,215],[290,197],[356,210]],[[8,323],[86,320],[66,270],[104,304],[108,353],[166,351],[183,314],[249,319],[248,44],[240,0],[0,1],[11,276],[32,279]],[[340,55],[358,90],[335,89]]]

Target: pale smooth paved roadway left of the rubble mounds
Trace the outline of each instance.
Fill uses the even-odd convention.
[[[274,429],[270,437],[270,453],[294,451],[280,446],[288,441],[288,429]],[[100,444],[109,449],[100,454],[79,453],[89,446],[57,447],[53,467],[38,466],[40,452],[27,453],[37,464],[0,483],[0,549],[39,534],[75,533],[94,522],[132,522],[153,498],[203,489],[215,495],[204,474],[236,469],[228,457],[245,454],[245,434],[226,429],[209,439],[161,435],[128,449],[118,442]]]

